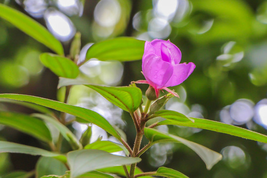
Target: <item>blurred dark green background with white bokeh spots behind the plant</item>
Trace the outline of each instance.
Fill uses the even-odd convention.
[[[267,0],[0,0],[43,24],[69,53],[76,32],[82,34],[80,60],[91,43],[118,36],[139,40],[170,39],[182,52],[181,62],[195,71],[174,87],[166,109],[190,117],[238,125],[267,134]],[[23,93],[60,100],[58,78],[39,61],[44,45],[0,19],[0,93]],[[51,52],[51,51],[49,51]],[[143,79],[141,61],[89,61],[80,68],[95,84],[127,86]],[[64,83],[64,81],[61,81]],[[139,86],[143,91],[148,86]],[[85,87],[71,90],[70,103],[92,109],[124,130],[134,142],[130,116]],[[0,110],[32,113],[0,103]],[[70,117],[70,116],[69,116]],[[73,124],[77,136],[86,126]],[[267,144],[211,131],[161,127],[223,154],[208,171],[201,159],[180,144],[156,144],[138,166],[153,171],[162,165],[190,178],[267,178]],[[114,140],[93,126],[93,139]],[[0,126],[0,139],[44,147],[26,134]],[[38,157],[0,154],[0,175],[31,171]]]

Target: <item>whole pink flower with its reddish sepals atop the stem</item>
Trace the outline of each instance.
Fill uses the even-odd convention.
[[[181,51],[169,40],[156,39],[152,42],[145,42],[142,71],[146,81],[136,83],[149,84],[155,89],[157,97],[162,89],[178,96],[176,92],[167,87],[181,84],[196,67],[192,62],[179,64],[180,60]]]

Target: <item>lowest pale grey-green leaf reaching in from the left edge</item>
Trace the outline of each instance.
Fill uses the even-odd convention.
[[[0,141],[0,153],[24,153],[30,155],[41,155],[46,157],[53,157],[62,162],[67,162],[66,157],[64,155],[53,153],[41,148],[12,143],[8,141]]]

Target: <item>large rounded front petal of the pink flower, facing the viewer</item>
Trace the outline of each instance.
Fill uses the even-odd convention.
[[[171,63],[162,60],[155,54],[143,56],[142,71],[145,79],[155,89],[165,86],[173,74]]]

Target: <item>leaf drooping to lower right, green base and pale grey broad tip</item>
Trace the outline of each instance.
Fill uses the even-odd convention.
[[[188,146],[205,162],[208,170],[210,170],[216,163],[218,163],[218,161],[223,158],[220,153],[173,134],[165,134],[149,128],[145,128],[144,134],[152,142],[152,144],[159,142],[179,142]]]

